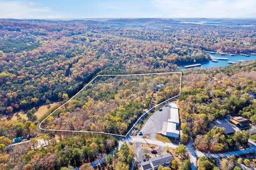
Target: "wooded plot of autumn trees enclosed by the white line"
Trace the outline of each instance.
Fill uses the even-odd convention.
[[[97,75],[40,123],[42,130],[126,136],[144,110],[180,95],[181,72]]]

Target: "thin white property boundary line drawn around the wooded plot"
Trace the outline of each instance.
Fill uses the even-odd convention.
[[[146,73],[146,74],[126,74],[126,75],[122,75],[122,74],[118,74],[118,75],[97,75],[96,77],[94,77],[94,79],[96,79],[98,76],[129,76],[129,75],[153,75],[153,74],[168,74],[168,73],[180,73],[180,92],[181,92],[181,77],[182,77],[182,72],[181,71],[177,71],[177,72],[166,72],[166,73]],[[86,84],[80,91],[78,91],[78,93],[80,93],[87,85],[89,85],[90,83],[92,83],[92,81],[94,81],[94,79],[92,79],[88,84]],[[71,101],[78,93],[76,93],[73,97],[71,97],[71,99],[69,99],[66,103],[64,103],[63,105],[61,105],[60,107],[58,107],[55,111],[57,111],[58,109],[60,109],[62,106],[66,105],[69,101]],[[180,95],[180,94],[179,94]],[[176,95],[166,101],[169,101],[175,97],[178,97],[179,95]],[[110,134],[110,135],[114,135],[114,136],[122,136],[122,137],[126,137],[130,131],[132,130],[132,128],[134,128],[134,126],[138,123],[138,121],[144,116],[146,115],[149,111],[151,111],[153,108],[158,107],[159,105],[162,105],[163,103],[165,103],[166,101],[163,101],[162,103],[152,107],[151,109],[149,109],[146,113],[144,113],[137,121],[136,123],[134,123],[134,125],[130,128],[130,130],[126,133],[126,135],[120,135],[120,134],[112,134],[112,133],[106,133],[106,132],[94,132],[94,131],[78,131],[78,130],[50,130],[50,129],[44,129],[41,128],[41,123],[43,121],[45,121],[46,119],[48,119],[48,117],[50,117],[50,115],[52,115],[55,111],[53,111],[48,117],[46,117],[40,124],[39,124],[39,128],[41,130],[48,130],[48,131],[60,131],[60,132],[88,132],[88,133],[102,133],[102,134]]]

